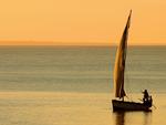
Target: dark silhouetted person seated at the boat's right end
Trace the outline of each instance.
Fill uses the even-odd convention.
[[[152,96],[148,95],[147,90],[145,90],[143,93],[144,93],[143,103],[145,105],[152,105],[153,100]]]

